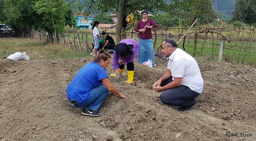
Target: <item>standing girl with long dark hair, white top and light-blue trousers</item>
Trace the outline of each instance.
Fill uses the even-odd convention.
[[[97,51],[98,48],[100,47],[100,31],[98,30],[98,25],[100,23],[98,21],[95,21],[93,23],[93,27],[91,29],[93,29],[93,40],[94,40],[94,49],[93,49],[93,56],[97,55]]]

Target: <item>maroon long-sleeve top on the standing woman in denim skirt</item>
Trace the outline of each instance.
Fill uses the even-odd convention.
[[[135,31],[139,32],[139,29],[144,29],[145,26],[151,26],[151,25],[153,28],[158,27],[158,25],[152,19],[148,19],[146,22],[139,20],[135,27]],[[146,29],[146,31],[144,33],[139,32],[139,38],[144,39],[144,40],[152,39],[151,28]]]

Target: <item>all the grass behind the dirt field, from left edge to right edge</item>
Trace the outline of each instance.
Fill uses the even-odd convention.
[[[203,28],[202,28],[203,29]],[[193,30],[193,29],[191,29]],[[243,33],[239,32],[240,29],[223,29],[222,34],[228,35],[230,39],[230,43],[225,41],[224,43],[224,52],[223,52],[223,59],[225,61],[229,61],[235,64],[256,64],[256,34],[252,34],[251,30],[241,30]],[[112,31],[109,32],[109,35],[116,42],[116,36]],[[220,38],[221,36],[218,34],[205,34],[200,33],[198,34],[197,40],[197,47],[194,53],[194,36],[193,34],[195,31],[191,31],[192,34],[187,34],[186,40],[184,43],[184,48],[186,52],[191,54],[192,56],[202,57],[208,56],[209,60],[217,61],[219,59],[219,47],[220,47]],[[162,40],[168,37],[168,34],[177,35],[180,31],[178,29],[170,29],[170,30],[163,30],[158,31],[157,33],[157,40],[156,44],[154,44],[155,52],[161,52],[161,48],[159,46],[162,43]],[[33,39],[21,39],[21,38],[0,38],[0,57],[7,57],[10,54],[15,52],[24,52],[30,56],[31,59],[56,59],[56,58],[82,58],[82,57],[89,57],[89,53],[91,53],[91,42],[92,42],[92,31],[91,30],[80,30],[80,43],[82,45],[82,50],[78,50],[78,43],[77,40],[78,32],[69,32],[70,41],[72,42],[72,49],[69,49],[67,45],[60,45],[60,44],[46,44],[45,41],[33,40]],[[131,33],[129,31],[126,34],[126,38],[133,38],[138,40],[137,33]],[[176,42],[178,42],[178,36],[173,37]],[[153,43],[155,37],[153,34]],[[205,39],[205,40],[204,40]],[[67,43],[67,38],[65,38]],[[87,41],[87,43],[86,43]],[[117,43],[117,42],[116,42]],[[76,47],[74,46],[76,44]],[[88,46],[86,46],[88,45]],[[179,47],[183,49],[183,40],[179,43]],[[74,49],[75,48],[75,49]]]

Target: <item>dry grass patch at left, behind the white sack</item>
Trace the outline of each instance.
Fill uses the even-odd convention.
[[[89,53],[69,49],[59,44],[46,44],[45,41],[30,38],[0,38],[0,58],[15,52],[26,52],[33,59],[86,58]]]

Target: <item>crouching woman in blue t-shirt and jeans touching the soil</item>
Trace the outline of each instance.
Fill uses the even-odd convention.
[[[84,65],[67,86],[67,99],[78,108],[85,107],[82,114],[100,116],[98,108],[102,105],[109,91],[119,98],[126,98],[108,79],[106,67],[110,54],[102,52],[94,57],[94,61]]]

